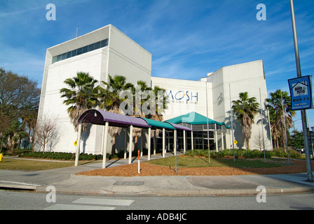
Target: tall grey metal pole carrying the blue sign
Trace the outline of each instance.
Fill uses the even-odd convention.
[[[300,66],[300,57],[299,57],[298,38],[296,36],[296,21],[294,18],[293,0],[290,0],[290,8],[291,8],[291,18],[292,18],[292,30],[293,30],[293,37],[294,37],[294,53],[296,56],[296,71],[299,78],[302,75],[301,75],[301,66]],[[306,110],[304,109],[301,110],[301,119],[302,119],[303,137],[304,137],[304,151],[306,151],[306,170],[308,174],[308,181],[313,181],[312,165],[310,162],[310,148],[308,144],[308,127],[306,123]]]

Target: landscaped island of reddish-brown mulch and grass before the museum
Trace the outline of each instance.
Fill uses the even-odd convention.
[[[313,163],[314,166],[314,163]],[[142,162],[140,173],[137,164],[96,169],[81,172],[85,176],[232,176],[254,174],[294,174],[306,172],[306,162],[302,160],[287,160],[268,158],[208,158],[189,155],[177,156],[177,172],[175,157],[162,158]]]

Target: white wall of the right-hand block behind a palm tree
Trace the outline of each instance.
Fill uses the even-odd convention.
[[[249,97],[255,97],[257,102],[261,102],[262,110],[265,111],[264,101],[267,98],[266,80],[264,76],[264,66],[261,60],[255,62],[247,62],[243,64],[236,64],[232,66],[225,66],[211,74],[213,85],[213,97],[217,97],[220,91],[223,91],[224,102],[221,103],[220,108],[214,104],[214,120],[224,122],[231,126],[230,119],[230,102],[239,99],[240,92],[248,92]],[[221,84],[221,82],[223,82]],[[230,86],[230,87],[229,87]],[[261,97],[259,94],[261,89]],[[215,90],[219,90],[216,92]],[[231,90],[231,99],[229,97]],[[261,101],[260,101],[261,98]],[[214,100],[213,99],[213,100]],[[223,106],[222,106],[223,105]],[[224,110],[221,108],[224,107]],[[270,150],[271,137],[269,132],[268,114],[264,114],[264,130],[262,131],[261,115],[257,114],[254,119],[255,123],[252,125],[252,137],[250,139],[250,148],[259,149],[257,144],[259,137],[262,138],[264,132],[265,148]],[[238,141],[237,148],[245,148],[245,142],[242,137],[242,127],[235,118],[233,119],[233,127],[235,139]],[[231,141],[230,141],[231,145]]]

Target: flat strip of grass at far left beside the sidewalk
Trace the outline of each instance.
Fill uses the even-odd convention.
[[[78,165],[84,162],[78,162]],[[86,162],[85,162],[86,163]],[[18,160],[2,158],[0,169],[37,171],[43,169],[56,169],[62,167],[74,167],[74,162],[49,162],[49,161],[34,161],[34,160]]]

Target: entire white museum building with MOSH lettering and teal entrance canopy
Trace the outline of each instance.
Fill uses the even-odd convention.
[[[209,140],[210,149],[219,151],[232,148],[234,139],[238,141],[235,148],[245,148],[240,123],[234,116],[231,119],[231,102],[239,99],[240,92],[248,92],[249,97],[256,97],[261,103],[263,111],[252,125],[250,147],[260,149],[263,147],[261,139],[264,139],[266,150],[272,149],[269,118],[264,107],[267,90],[262,60],[223,66],[212,73],[200,74],[199,80],[153,77],[151,53],[113,25],[107,25],[47,49],[38,121],[54,118],[57,123],[60,135],[52,144],[52,151],[76,151],[74,141],[78,133],[67,113],[69,106],[63,104],[60,90],[67,87],[64,80],[73,78],[78,71],[89,73],[99,81],[107,81],[108,75],[120,75],[133,85],[137,80],[144,80],[151,87],[157,85],[165,89],[169,104],[163,113],[164,121],[191,129],[185,133],[186,141],[182,130],[178,130],[178,149],[206,149]],[[89,125],[81,135],[81,152],[102,154],[103,130],[102,125]],[[126,133],[126,130],[121,132],[116,140],[117,151],[128,148]],[[144,133],[147,139],[148,132]],[[172,150],[175,146],[172,130],[165,132],[165,136],[165,147]],[[107,153],[111,153],[110,139],[108,135]],[[147,141],[144,144],[147,148]],[[155,147],[161,148],[162,144],[163,137],[159,134]]]

